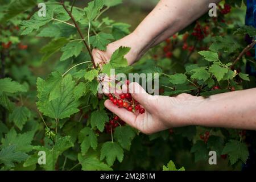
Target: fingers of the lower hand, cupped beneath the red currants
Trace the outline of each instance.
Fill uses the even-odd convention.
[[[122,121],[124,121],[128,125],[138,129],[138,126],[136,125],[136,122],[138,121],[138,118],[137,118],[137,115],[135,115],[133,112],[128,111],[125,108],[119,108],[118,106],[112,104],[112,102],[110,100],[106,100],[104,105],[110,111],[112,111],[112,113],[118,115],[118,117],[121,118]],[[142,120],[143,117],[139,117],[139,118],[140,118],[140,120]]]

